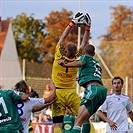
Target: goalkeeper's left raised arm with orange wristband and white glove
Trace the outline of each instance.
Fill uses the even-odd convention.
[[[71,30],[73,29],[73,27],[75,26],[75,24],[79,24],[79,22],[84,19],[84,14],[81,12],[76,13],[73,16],[72,21],[69,23],[69,25],[66,27],[66,29],[64,30],[64,32],[61,35],[61,38],[58,42],[59,45],[65,45],[65,40],[67,38],[67,36],[69,35],[69,33],[71,32]],[[57,44],[57,45],[58,45]]]

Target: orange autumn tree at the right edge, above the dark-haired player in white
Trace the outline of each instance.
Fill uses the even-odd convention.
[[[133,77],[132,10],[119,5],[111,7],[112,22],[108,33],[101,36],[101,56],[114,76]]]

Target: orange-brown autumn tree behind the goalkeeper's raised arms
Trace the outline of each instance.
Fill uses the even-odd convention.
[[[45,17],[45,30],[47,31],[47,34],[42,49],[42,51],[45,52],[44,62],[53,62],[51,57],[54,57],[55,47],[64,29],[71,21],[72,15],[72,11],[67,11],[63,8],[61,12],[52,11],[48,17]],[[77,34],[78,30],[75,28],[66,41],[74,41],[77,43]]]

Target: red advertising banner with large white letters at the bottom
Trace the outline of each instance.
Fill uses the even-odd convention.
[[[32,123],[33,133],[53,133],[53,124]]]

